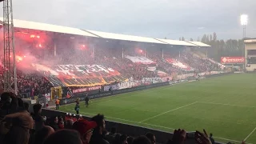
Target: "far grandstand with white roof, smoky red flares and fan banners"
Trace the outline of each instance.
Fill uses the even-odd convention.
[[[40,84],[46,86],[47,90],[43,93],[49,92],[50,84],[54,87],[99,86],[125,82],[128,78],[141,80],[160,77],[158,74],[170,77],[174,73],[186,74],[214,68],[207,66],[214,66],[210,61],[204,62],[198,57],[195,58],[198,60],[190,62],[187,58],[196,55],[187,51],[198,46],[209,47],[202,42],[112,34],[18,19],[14,19],[14,31],[19,74],[32,70],[42,75],[43,82],[37,87]],[[198,61],[205,64],[198,65]],[[154,70],[148,70],[152,66]],[[91,75],[91,70],[96,68],[95,74],[104,76]],[[114,72],[110,74],[109,69]],[[70,70],[76,74],[70,73]],[[46,84],[47,81],[50,83]]]

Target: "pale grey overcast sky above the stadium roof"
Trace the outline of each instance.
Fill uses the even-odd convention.
[[[14,18],[152,38],[256,38],[256,0],[13,0]],[[1,10],[2,11],[2,10]]]

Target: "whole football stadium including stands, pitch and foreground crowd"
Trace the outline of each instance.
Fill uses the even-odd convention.
[[[0,143],[256,143],[253,38],[245,57],[216,60],[204,42],[13,22]]]

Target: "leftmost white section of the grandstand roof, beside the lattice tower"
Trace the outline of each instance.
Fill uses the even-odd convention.
[[[2,22],[2,17],[0,17],[0,22]],[[77,28],[72,27],[66,27],[66,26],[56,26],[46,23],[39,23],[39,22],[29,22],[29,21],[23,21],[14,19],[14,27],[17,28],[23,28],[23,29],[30,29],[30,30],[44,30],[44,31],[50,31],[50,32],[56,32],[56,33],[64,33],[64,34],[75,34],[75,35],[82,35],[82,36],[88,36],[88,37],[97,37],[94,34],[90,34],[84,30],[80,30]]]

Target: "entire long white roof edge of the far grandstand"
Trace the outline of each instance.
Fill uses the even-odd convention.
[[[0,0],[1,1],[1,0]],[[0,19],[3,19],[0,17]],[[0,20],[0,24],[2,24],[2,20]],[[22,28],[22,29],[30,29],[30,30],[43,30],[55,33],[63,33],[63,34],[74,34],[74,35],[82,35],[94,38],[109,38],[109,39],[117,39],[124,41],[132,41],[132,42],[150,42],[150,43],[158,43],[158,44],[170,44],[176,46],[209,46],[202,42],[185,42],[171,39],[160,39],[160,38],[147,38],[140,37],[134,35],[125,35],[125,34],[114,34],[114,33],[106,33],[95,30],[80,30],[78,28],[72,28],[67,26],[57,26],[40,22],[29,22],[24,20],[14,19],[14,27]]]

